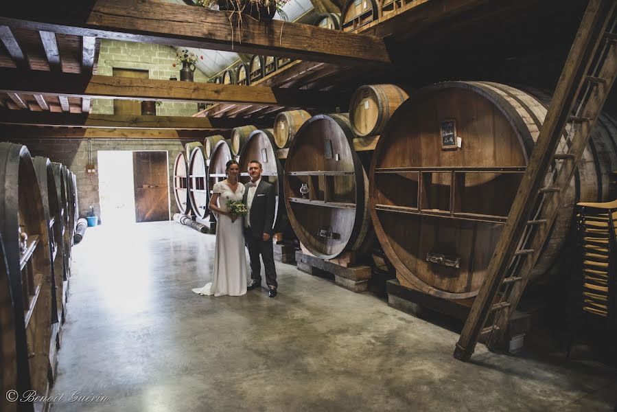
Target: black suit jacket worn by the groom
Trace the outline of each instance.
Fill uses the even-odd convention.
[[[248,183],[244,185],[244,198],[242,201],[247,205]],[[247,205],[248,207],[248,205]],[[275,222],[276,194],[275,187],[262,178],[255,189],[253,203],[251,203],[250,230],[253,236],[261,238],[264,233],[272,236],[272,225]]]

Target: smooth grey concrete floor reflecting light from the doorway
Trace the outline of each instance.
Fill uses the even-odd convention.
[[[277,263],[279,296],[202,297],[214,236],[175,222],[75,246],[52,411],[612,411],[613,370],[452,358],[458,335]],[[105,396],[69,402],[81,396]]]

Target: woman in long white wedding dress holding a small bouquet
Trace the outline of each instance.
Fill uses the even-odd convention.
[[[225,167],[227,179],[216,183],[208,207],[218,213],[216,246],[212,282],[193,289],[199,295],[241,296],[246,293],[246,255],[244,254],[244,227],[242,218],[227,211],[227,201],[242,201],[244,185],[237,181],[240,168],[230,160]],[[218,203],[217,203],[218,201]]]

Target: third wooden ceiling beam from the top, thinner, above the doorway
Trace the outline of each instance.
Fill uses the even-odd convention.
[[[27,126],[71,126],[89,128],[152,128],[186,130],[224,130],[244,126],[248,120],[184,116],[93,115],[85,113],[49,113],[0,111],[0,124]],[[263,126],[263,124],[261,124]]]

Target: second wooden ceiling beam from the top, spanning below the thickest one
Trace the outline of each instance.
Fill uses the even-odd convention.
[[[0,91],[38,93],[77,98],[161,100],[176,102],[220,102],[331,108],[347,102],[347,94],[322,93],[237,84],[174,82],[116,76],[20,71],[0,68]]]

